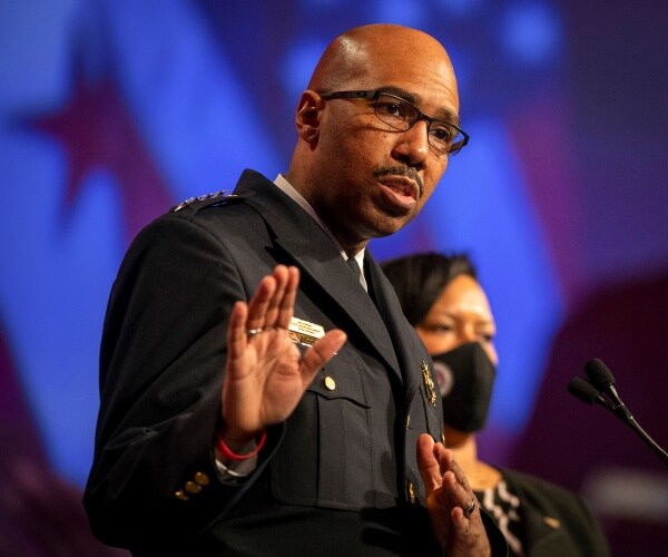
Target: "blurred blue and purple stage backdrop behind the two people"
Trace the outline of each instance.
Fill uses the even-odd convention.
[[[22,476],[0,497],[0,545],[49,555],[30,541],[49,508],[36,486],[61,500],[86,481],[104,312],[131,238],[246,167],[284,170],[322,49],[379,21],[434,35],[458,72],[471,143],[423,213],[371,251],[478,264],[501,359],[482,456],[580,490],[615,555],[668,547],[668,470],[566,391],[602,359],[668,446],[661,0],[1,2],[0,472]],[[70,555],[90,555],[70,510],[87,548]]]

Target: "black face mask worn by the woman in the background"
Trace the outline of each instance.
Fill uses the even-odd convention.
[[[432,355],[446,426],[471,433],[483,428],[497,369],[479,342]]]

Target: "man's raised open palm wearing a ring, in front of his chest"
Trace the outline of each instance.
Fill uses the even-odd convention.
[[[346,340],[336,329],[304,354],[299,352],[287,332],[298,285],[296,267],[277,265],[263,277],[248,304],[239,301],[232,311],[220,434],[233,450],[267,426],[284,421],[318,369]]]

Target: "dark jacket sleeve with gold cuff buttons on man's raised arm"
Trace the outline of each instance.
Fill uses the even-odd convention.
[[[218,482],[212,455],[227,315],[245,299],[222,243],[187,218],[161,217],[130,246],[105,321],[84,499],[101,540],[128,547],[193,536],[252,483]],[[278,438],[279,428],[263,453]]]

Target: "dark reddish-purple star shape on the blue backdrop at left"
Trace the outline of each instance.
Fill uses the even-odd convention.
[[[84,178],[110,172],[120,188],[126,240],[174,205],[130,111],[111,79],[87,84],[77,76],[68,102],[35,120],[38,129],[62,145],[68,158],[66,209],[77,199]]]

